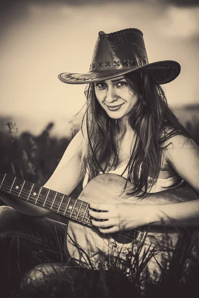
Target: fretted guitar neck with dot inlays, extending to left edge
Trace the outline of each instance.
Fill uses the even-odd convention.
[[[23,201],[55,212],[81,224],[92,226],[89,203],[26,180],[0,175],[0,190]]]

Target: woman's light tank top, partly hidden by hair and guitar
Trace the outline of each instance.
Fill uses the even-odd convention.
[[[108,171],[108,173],[121,175],[123,173],[125,167],[126,167],[126,164],[124,164],[121,167],[116,168],[115,170]],[[126,169],[126,171],[122,174],[122,176],[124,178],[127,178],[127,173],[128,173],[128,171]],[[102,172],[100,172],[100,174],[102,174]],[[89,178],[89,175],[88,175],[88,173],[86,173],[84,181],[83,181],[83,188],[87,185],[88,178]],[[150,179],[152,179],[152,178],[149,177],[149,180]],[[166,190],[165,187],[170,187],[177,181],[179,181],[179,175],[175,175],[175,176],[169,177],[169,178],[158,178],[157,182],[152,186],[152,188],[151,188],[151,190],[149,190],[149,192],[156,193],[156,192]],[[180,187],[183,184],[183,182],[184,182],[184,180],[181,179],[181,181],[178,183],[178,185],[176,185],[175,187],[171,187],[171,188]]]

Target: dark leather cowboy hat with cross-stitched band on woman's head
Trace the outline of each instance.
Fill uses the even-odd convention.
[[[180,74],[181,66],[173,60],[149,63],[143,33],[128,28],[108,34],[99,32],[89,72],[62,73],[58,77],[64,83],[86,84],[134,71],[151,73],[159,84],[166,84]]]

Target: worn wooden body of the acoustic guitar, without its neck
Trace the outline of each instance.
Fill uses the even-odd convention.
[[[144,199],[128,196],[126,191],[132,188],[132,184],[127,182],[126,191],[124,192],[125,183],[126,179],[119,175],[100,174],[86,185],[79,196],[79,200],[88,203],[143,205],[177,203],[188,200],[189,189],[186,188],[153,193],[152,197],[149,195]],[[194,191],[190,193],[189,190],[189,200],[196,198],[198,198],[198,194]],[[145,253],[147,252],[150,260],[145,268],[152,276],[157,277],[161,273],[160,264],[163,265],[163,262],[164,264],[166,262],[166,266],[168,266],[179,237],[182,236],[179,229],[164,226],[141,227],[133,231],[124,231],[122,235],[115,234],[102,234],[96,228],[69,221],[67,235],[69,253],[78,263],[80,260],[85,266],[92,266],[97,269],[100,265],[104,265],[103,254],[117,261],[119,256],[122,266],[122,261],[125,262],[127,258],[128,260],[131,259],[131,265],[135,265],[136,253],[139,254],[141,262],[142,258],[146,258]]]

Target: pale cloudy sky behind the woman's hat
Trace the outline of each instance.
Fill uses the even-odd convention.
[[[174,108],[199,104],[199,1],[0,0],[0,114],[19,131],[39,133],[49,121],[69,134],[85,103],[85,85],[58,80],[89,71],[98,32],[138,28],[149,62],[176,60],[179,77],[165,84]],[[68,131],[68,132],[67,132]]]

